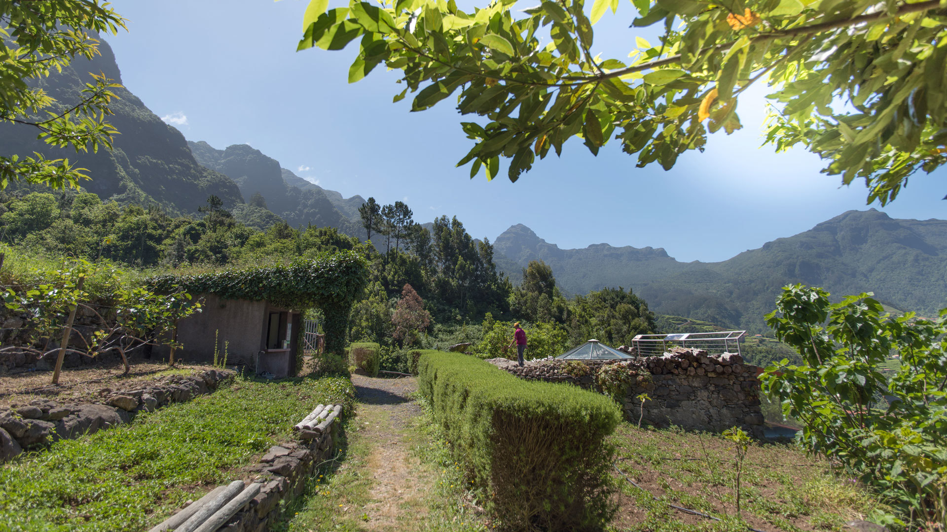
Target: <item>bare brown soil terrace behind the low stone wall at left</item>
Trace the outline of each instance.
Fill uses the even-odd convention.
[[[210,367],[183,365],[169,367],[166,363],[136,361],[128,375],[122,375],[122,364],[63,369],[59,385],[52,384],[52,371],[14,370],[0,378],[0,409],[11,404],[25,404],[32,399],[56,399],[63,403],[90,402],[98,399],[103,388],[134,389],[162,375],[190,375]]]

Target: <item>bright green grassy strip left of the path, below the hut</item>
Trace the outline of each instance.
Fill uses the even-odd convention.
[[[227,481],[318,402],[354,395],[345,379],[238,380],[134,422],[0,467],[0,531],[117,532],[160,523]]]

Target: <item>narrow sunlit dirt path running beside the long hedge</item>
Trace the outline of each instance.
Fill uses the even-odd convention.
[[[359,400],[355,422],[363,437],[374,442],[364,473],[373,481],[364,527],[399,530],[406,508],[411,508],[414,518],[424,511],[424,492],[429,482],[416,474],[420,463],[411,454],[405,436],[410,420],[420,415],[420,407],[410,399],[418,383],[414,377],[372,379],[361,375],[352,375],[352,383]]]

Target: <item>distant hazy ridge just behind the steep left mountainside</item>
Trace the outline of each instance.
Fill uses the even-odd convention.
[[[312,223],[319,227],[335,227],[349,236],[361,235],[361,224],[352,220],[346,211],[337,208],[330,196],[338,196],[338,200],[347,207],[356,201],[361,205],[361,197],[343,200],[338,192],[325,190],[297,177],[290,170],[280,168],[276,159],[246,144],[235,144],[225,150],[217,150],[204,141],[188,141],[188,145],[202,165],[223,173],[240,186],[245,201],[249,202],[250,197],[259,192],[267,208],[290,225],[298,227]],[[252,213],[247,209],[237,216],[241,220],[241,216]],[[252,225],[265,222],[259,212],[254,213],[254,219],[260,222]]]

